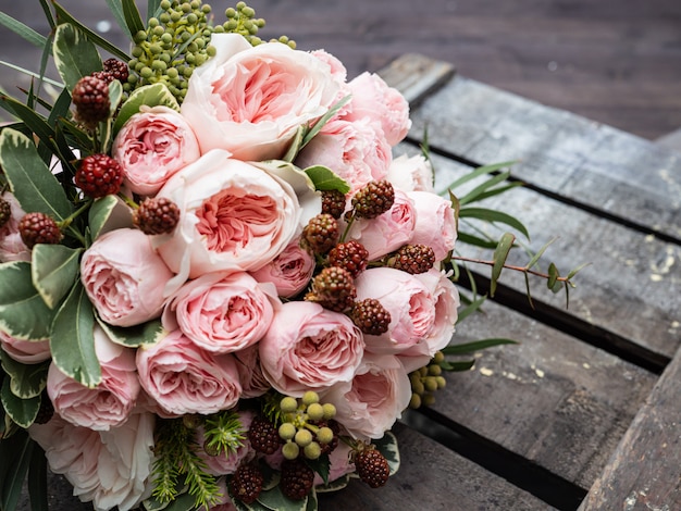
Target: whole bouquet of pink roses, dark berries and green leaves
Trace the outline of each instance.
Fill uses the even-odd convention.
[[[23,97],[0,96],[16,119],[0,132],[3,509],[27,474],[44,498],[46,459],[97,510],[313,510],[350,477],[386,484],[391,427],[457,367],[458,203],[426,153],[393,154],[407,101],[260,40],[244,2],[222,24],[200,0],[150,0],[146,21],[108,3],[127,50],[57,2],[40,0],[48,37],[0,18],[45,48]]]

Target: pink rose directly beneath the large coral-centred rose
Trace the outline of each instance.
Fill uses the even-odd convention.
[[[178,327],[197,346],[228,353],[256,344],[270,327],[274,286],[248,273],[207,273],[185,283],[163,312],[163,326]]]

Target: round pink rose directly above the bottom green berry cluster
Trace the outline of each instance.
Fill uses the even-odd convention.
[[[362,334],[348,316],[307,301],[284,303],[259,346],[265,377],[295,397],[349,382],[364,351]]]

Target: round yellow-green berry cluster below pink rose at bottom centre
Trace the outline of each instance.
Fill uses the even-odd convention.
[[[302,454],[308,460],[317,460],[334,441],[335,433],[327,424],[335,416],[336,408],[320,403],[319,395],[312,390],[300,399],[284,397],[280,407],[278,434],[285,441],[284,458],[295,460]]]

